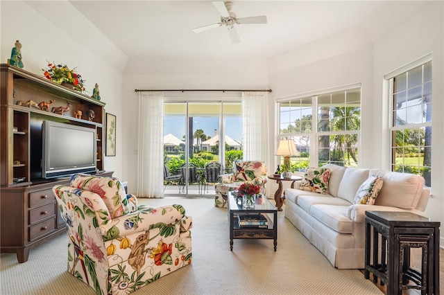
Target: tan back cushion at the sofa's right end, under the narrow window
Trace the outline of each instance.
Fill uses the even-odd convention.
[[[424,178],[410,173],[371,170],[373,175],[382,176],[384,186],[379,191],[375,205],[414,209],[418,206]]]

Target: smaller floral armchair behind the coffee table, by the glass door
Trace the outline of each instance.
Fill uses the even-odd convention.
[[[237,190],[241,184],[250,183],[261,186],[261,193],[265,194],[268,168],[261,161],[236,160],[233,163],[233,172],[220,175],[219,184],[216,184],[214,206],[227,208],[228,192]]]

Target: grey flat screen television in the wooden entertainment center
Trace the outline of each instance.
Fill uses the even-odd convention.
[[[44,120],[42,177],[68,177],[96,171],[96,128]]]

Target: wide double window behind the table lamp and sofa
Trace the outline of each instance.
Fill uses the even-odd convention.
[[[325,163],[358,165],[360,87],[292,98],[279,108],[280,138],[292,138],[299,152],[291,157],[293,170]]]

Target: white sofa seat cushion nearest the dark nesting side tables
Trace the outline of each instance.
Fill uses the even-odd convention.
[[[311,206],[310,214],[338,233],[353,233],[353,222],[348,219],[347,210],[348,206],[318,204]]]

